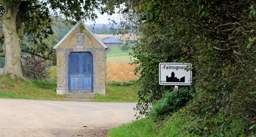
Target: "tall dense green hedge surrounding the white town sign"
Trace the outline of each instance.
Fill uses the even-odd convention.
[[[256,132],[254,0],[124,3],[127,7],[121,11],[126,18],[121,26],[126,30],[132,28],[139,36],[130,55],[137,59],[133,63],[141,63],[135,69],[135,73],[141,70],[142,74],[137,105],[141,114],[148,113],[149,104],[161,99],[164,91],[171,88],[158,84],[158,64],[190,62],[193,101],[186,111],[205,121],[191,133],[215,137],[239,136],[239,132],[249,136]],[[234,119],[239,119],[236,131],[231,130]]]

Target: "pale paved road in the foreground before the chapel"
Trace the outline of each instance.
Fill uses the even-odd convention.
[[[136,103],[0,99],[0,137],[100,137],[98,134],[106,129],[134,120],[135,106]]]

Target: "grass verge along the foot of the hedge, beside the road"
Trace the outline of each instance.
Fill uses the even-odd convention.
[[[217,123],[214,119],[209,123]],[[198,125],[203,125],[204,128],[198,128]],[[244,127],[240,125],[239,120],[233,120],[230,125],[225,125],[225,128],[230,126],[230,130],[223,130],[223,125],[215,125],[208,127],[207,124],[202,124],[202,119],[197,116],[191,116],[189,110],[184,107],[164,120],[153,120],[152,116],[144,119],[133,121],[130,124],[121,125],[108,132],[110,137],[247,137],[243,132]],[[213,132],[210,132],[213,131]],[[200,131],[200,132],[199,132]],[[205,134],[207,133],[207,134]],[[255,133],[251,136],[255,137]]]

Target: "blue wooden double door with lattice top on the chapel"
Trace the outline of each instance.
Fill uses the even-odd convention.
[[[69,92],[92,92],[93,60],[89,52],[69,54]]]

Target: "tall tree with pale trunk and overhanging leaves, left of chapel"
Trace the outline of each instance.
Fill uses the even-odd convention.
[[[65,16],[66,20],[95,20],[95,9],[102,9],[96,0],[0,0],[0,22],[5,54],[4,74],[11,73],[23,77],[20,54],[25,33],[41,41],[53,34],[52,14]],[[34,41],[37,42],[38,39]],[[38,50],[44,48],[42,46]]]

